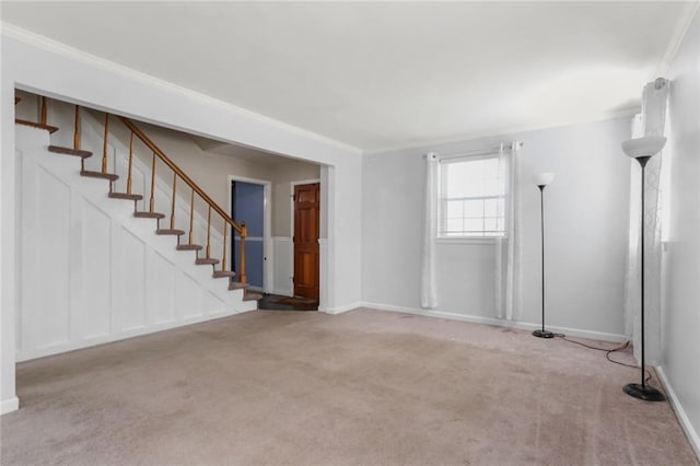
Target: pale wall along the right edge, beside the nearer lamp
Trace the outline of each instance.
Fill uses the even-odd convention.
[[[663,371],[700,455],[700,16],[672,63],[670,224],[664,255]],[[666,153],[666,152],[665,152]]]

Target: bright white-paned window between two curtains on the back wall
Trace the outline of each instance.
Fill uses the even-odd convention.
[[[503,236],[505,189],[498,154],[442,160],[439,179],[439,237]]]

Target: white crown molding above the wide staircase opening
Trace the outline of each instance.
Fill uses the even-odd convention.
[[[256,121],[262,123],[265,125],[269,125],[272,127],[276,127],[280,130],[287,131],[287,132],[291,132],[311,140],[314,140],[316,142],[320,142],[327,145],[332,145],[335,148],[341,149],[343,151],[348,151],[358,155],[362,154],[362,150],[360,148],[357,148],[354,145],[345,143],[345,142],[340,142],[337,141],[335,139],[330,139],[328,137],[318,135],[316,132],[300,128],[298,126],[293,126],[270,117],[267,117],[265,115],[248,110],[246,108],[243,107],[238,107],[236,105],[233,105],[231,103],[211,97],[207,94],[202,94],[199,93],[197,91],[194,91],[191,89],[188,88],[184,88],[182,85],[178,84],[174,84],[170,81],[165,81],[162,80],[160,78],[155,78],[151,74],[147,74],[142,71],[136,70],[133,68],[129,68],[126,67],[124,65],[119,65],[117,62],[114,61],[109,61],[107,59],[104,59],[102,57],[82,51],[78,48],[74,48],[72,46],[69,46],[67,44],[54,40],[49,37],[36,34],[34,32],[24,30],[22,27],[15,26],[14,24],[11,23],[7,23],[7,22],[0,22],[0,32],[2,34],[2,36],[22,42],[24,44],[27,44],[30,46],[34,46],[36,48],[49,51],[51,54],[56,54],[66,58],[69,58],[71,60],[75,60],[75,61],[81,61],[84,63],[88,63],[90,66],[96,67],[96,68],[102,68],[104,70],[114,72],[116,74],[121,74],[125,77],[125,79],[130,79],[130,80],[135,80],[135,81],[140,81],[150,85],[154,85],[154,86],[160,86],[160,88],[165,88],[167,90],[170,90],[171,92],[177,93],[184,97],[188,97],[195,101],[198,101],[202,104],[209,105],[209,106],[218,106],[220,108],[224,108],[228,112],[231,113],[235,113],[238,115],[242,115],[246,118],[249,119],[254,119]]]

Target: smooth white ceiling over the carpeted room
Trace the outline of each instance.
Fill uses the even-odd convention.
[[[630,112],[692,11],[668,1],[1,8],[4,22],[365,151]]]

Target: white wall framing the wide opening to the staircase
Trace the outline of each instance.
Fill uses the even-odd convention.
[[[2,28],[0,175],[2,186],[2,381],[3,410],[14,406],[14,315],[16,299],[14,88],[109,110],[138,120],[334,167],[329,187],[329,293],[334,312],[360,302],[360,152],[326,138],[192,93],[115,63],[79,53],[16,27]],[[5,406],[8,408],[5,408]]]

